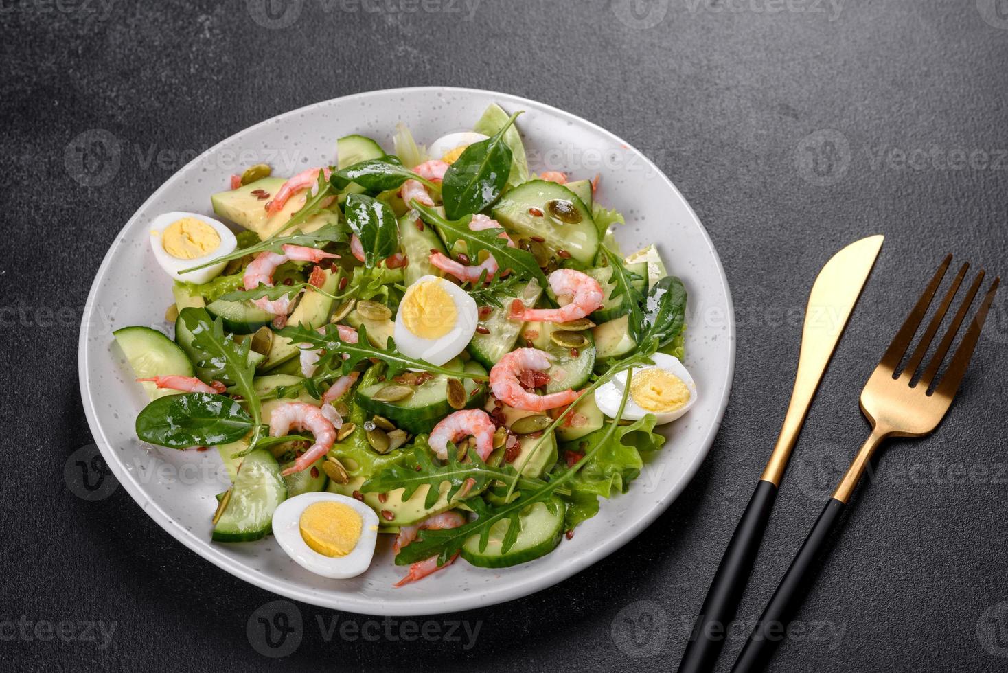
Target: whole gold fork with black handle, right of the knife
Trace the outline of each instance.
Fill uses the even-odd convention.
[[[966,335],[960,342],[944,374],[936,378],[942,361],[949,353],[956,334],[966,314],[973,303],[984,280],[984,272],[980,271],[967,290],[966,298],[952,318],[949,328],[938,343],[934,355],[921,370],[921,364],[934,335],[941,326],[942,319],[959,291],[966,273],[970,268],[964,264],[953,279],[951,286],[938,304],[934,315],[924,329],[920,342],[903,367],[900,362],[909,352],[913,336],[927,313],[931,300],[937,293],[938,286],[944,278],[946,271],[952,263],[952,255],[946,257],[931,281],[924,288],[924,293],[917,300],[913,310],[896,332],[878,367],[861,391],[861,410],[872,425],[872,432],[861,446],[854,462],[847,469],[840,486],[833,494],[823,513],[816,520],[811,532],[805,538],[794,560],[791,561],[787,573],[780,581],[776,591],[767,603],[753,633],[749,635],[745,647],[732,668],[733,672],[755,671],[762,668],[767,658],[773,652],[776,644],[782,639],[786,626],[800,602],[802,589],[812,579],[816,559],[823,551],[844,506],[851,500],[855,487],[864,475],[876,449],[887,437],[921,437],[934,430],[944,418],[952,400],[959,390],[966,373],[967,365],[977,347],[980,330],[984,325],[987,312],[994,293],[998,289],[1000,278],[995,278],[990,289],[984,296],[980,307],[974,315]],[[918,377],[919,374],[919,377]]]

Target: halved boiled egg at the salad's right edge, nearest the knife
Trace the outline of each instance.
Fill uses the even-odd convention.
[[[678,358],[656,353],[651,360],[654,367],[633,370],[623,418],[638,420],[654,414],[658,425],[670,423],[697,403],[697,384]],[[595,391],[595,403],[610,418],[619,412],[626,383],[626,372],[621,372]]]

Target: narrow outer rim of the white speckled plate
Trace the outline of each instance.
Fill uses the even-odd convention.
[[[339,596],[334,599],[332,594],[320,594],[313,593],[309,590],[300,589],[296,586],[290,586],[282,582],[282,580],[275,579],[271,575],[267,575],[261,571],[246,568],[240,563],[235,563],[233,559],[226,556],[221,550],[217,549],[213,545],[201,545],[196,539],[196,536],[190,531],[185,530],[183,526],[179,525],[171,516],[169,516],[160,506],[158,506],[153,501],[146,498],[141,490],[140,485],[136,482],[134,476],[123,469],[119,460],[114,458],[114,453],[112,451],[111,443],[108,437],[105,435],[104,428],[98,422],[97,411],[94,406],[94,399],[91,396],[90,390],[88,388],[87,382],[87,363],[88,363],[88,325],[91,323],[88,314],[89,311],[93,310],[95,305],[96,295],[98,294],[98,288],[100,281],[107,273],[109,267],[112,264],[112,252],[117,248],[117,243],[124,238],[126,231],[133,225],[134,221],[137,219],[138,214],[147,208],[148,204],[155,200],[162,191],[164,191],[172,178],[179,174],[180,172],[186,170],[193,164],[199,162],[205,156],[213,154],[221,146],[229,143],[232,139],[245,134],[253,129],[265,126],[267,124],[275,124],[284,118],[291,117],[303,113],[309,109],[318,108],[328,104],[332,104],[336,101],[345,101],[348,99],[366,99],[369,97],[379,97],[379,96],[389,96],[389,95],[408,95],[415,94],[418,92],[454,92],[467,95],[478,95],[478,96],[490,96],[494,97],[501,102],[517,103],[517,104],[531,104],[539,109],[542,109],[550,114],[556,115],[561,119],[566,121],[574,121],[579,124],[586,124],[592,130],[603,134],[611,138],[612,140],[626,146],[628,149],[635,152],[650,166],[655,174],[664,181],[664,183],[672,189],[676,196],[685,206],[687,213],[692,218],[695,224],[700,230],[705,244],[710,250],[715,263],[716,271],[720,276],[722,288],[725,293],[725,299],[728,307],[727,314],[727,327],[728,327],[728,341],[729,341],[729,358],[728,367],[725,373],[725,378],[721,382],[723,393],[721,399],[718,401],[717,413],[712,418],[713,422],[710,429],[704,435],[701,441],[701,449],[697,452],[694,459],[685,465],[685,469],[682,472],[682,479],[679,483],[672,488],[668,494],[666,494],[661,500],[657,501],[645,514],[644,516],[633,526],[628,528],[622,528],[618,530],[615,534],[606,537],[601,544],[593,547],[587,552],[577,556],[572,559],[570,563],[566,564],[554,564],[548,567],[543,573],[536,575],[533,579],[519,584],[516,586],[509,586],[506,589],[499,589],[494,591],[493,588],[487,588],[480,591],[466,592],[462,594],[452,595],[452,596],[419,596],[412,597],[406,601],[396,601],[389,603],[387,600],[375,599],[373,597],[355,597],[355,596]],[[371,615],[371,616],[388,616],[388,617],[421,617],[428,615],[444,615],[454,612],[460,612],[465,610],[474,610],[479,608],[487,608],[494,604],[499,604],[502,602],[507,602],[509,600],[514,600],[521,598],[532,593],[538,592],[544,588],[548,588],[555,584],[562,582],[563,580],[572,577],[573,575],[581,572],[585,568],[601,561],[613,552],[617,551],[625,544],[633,540],[640,533],[642,533],[648,526],[650,526],[655,519],[661,516],[668,507],[674,502],[685,490],[686,486],[696,477],[697,472],[700,469],[700,465],[707,458],[708,453],[711,450],[711,446],[717,437],[718,431],[721,428],[722,420],[725,416],[725,410],[728,406],[729,397],[731,395],[732,384],[734,382],[735,376],[735,359],[736,359],[736,324],[735,324],[735,307],[732,300],[731,287],[728,283],[728,276],[725,273],[724,264],[721,261],[721,256],[718,254],[717,249],[714,246],[714,242],[711,240],[711,236],[704,227],[703,222],[697,216],[689,201],[682,195],[682,193],[675,186],[675,183],[662,171],[651,159],[642,151],[628,143],[626,140],[620,138],[611,131],[591,122],[579,115],[576,115],[559,108],[553,107],[546,103],[541,103],[533,99],[525,98],[522,96],[516,96],[513,94],[505,94],[502,92],[489,91],[485,89],[474,89],[467,87],[440,87],[440,86],[424,86],[424,87],[401,87],[395,89],[379,89],[366,92],[358,92],[355,94],[348,94],[346,96],[340,96],[337,98],[326,99],[323,101],[317,101],[314,103],[289,110],[287,112],[275,115],[263,121],[260,121],[252,126],[248,126],[240,131],[233,133],[232,135],[224,138],[220,142],[212,145],[210,148],[201,152],[193,160],[186,163],[184,166],[175,170],[170,176],[168,176],[160,186],[158,186],[151,194],[144,199],[144,201],[134,211],[133,215],[127,219],[126,223],[116,234],[112,245],[106,251],[104,258],[102,259],[101,265],[98,267],[98,271],[95,273],[95,278],[92,281],[91,289],[88,291],[88,298],[84,306],[83,319],[81,322],[81,331],[78,339],[78,385],[81,390],[81,400],[84,406],[85,417],[88,421],[88,427],[92,432],[95,439],[95,443],[98,445],[99,450],[102,453],[102,457],[105,460],[107,466],[112,472],[112,475],[116,478],[119,484],[123,486],[126,492],[129,494],[130,498],[140,507],[140,509],[147,514],[153,521],[165,530],[171,537],[173,537],[178,542],[182,543],[187,549],[196,553],[199,557],[204,558],[222,570],[234,575],[250,584],[258,586],[259,588],[271,591],[277,595],[281,595],[294,600],[300,600],[307,604],[312,604],[321,608],[327,608],[331,610],[349,611],[360,615]]]

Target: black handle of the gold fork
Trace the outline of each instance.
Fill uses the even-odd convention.
[[[801,602],[808,583],[814,578],[818,568],[817,559],[827,543],[830,533],[837,525],[844,503],[832,498],[815,521],[808,537],[802,543],[791,567],[780,580],[770,602],[759,618],[756,628],[749,634],[746,645],[732,667],[732,673],[751,673],[762,670],[767,659],[783,638],[787,624]]]

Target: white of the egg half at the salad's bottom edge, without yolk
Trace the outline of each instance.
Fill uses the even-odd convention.
[[[312,549],[301,537],[301,514],[313,503],[341,503],[361,515],[361,537],[346,556],[326,556]],[[364,503],[335,493],[302,493],[280,503],[273,512],[273,537],[283,551],[305,570],[334,579],[356,577],[371,565],[378,541],[378,515]]]

